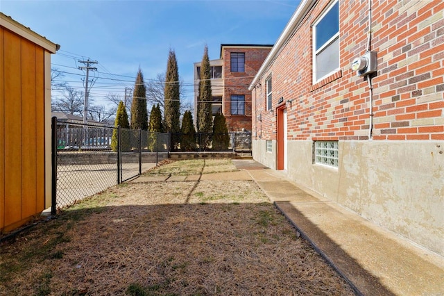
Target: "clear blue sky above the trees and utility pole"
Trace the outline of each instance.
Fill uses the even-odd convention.
[[[144,79],[165,72],[174,49],[184,101],[193,98],[193,63],[207,44],[210,59],[219,58],[220,44],[274,44],[298,6],[298,0],[262,1],[110,1],[0,0],[0,11],[60,44],[53,67],[81,91],[78,60],[99,62],[99,77],[90,90],[96,104],[105,95],[133,87],[137,69]],[[113,80],[114,79],[114,80]]]

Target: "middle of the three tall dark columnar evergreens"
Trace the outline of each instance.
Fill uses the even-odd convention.
[[[167,74],[164,88],[164,127],[171,133],[171,146],[178,147],[178,133],[180,132],[180,85],[176,53],[169,50]]]

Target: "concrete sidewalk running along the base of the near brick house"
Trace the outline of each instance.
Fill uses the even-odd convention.
[[[282,172],[233,160],[363,295],[444,295],[444,258],[368,222]],[[215,176],[213,176],[214,179]]]

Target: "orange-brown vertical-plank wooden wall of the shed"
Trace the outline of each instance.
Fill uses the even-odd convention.
[[[0,27],[0,231],[44,210],[45,50]]]

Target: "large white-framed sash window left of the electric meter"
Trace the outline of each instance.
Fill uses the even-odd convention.
[[[339,1],[314,23],[313,80],[320,81],[339,69]]]

